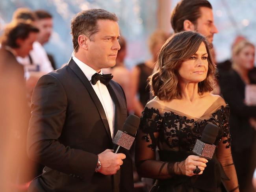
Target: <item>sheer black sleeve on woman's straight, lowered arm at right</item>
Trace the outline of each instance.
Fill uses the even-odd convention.
[[[237,176],[236,176],[236,169],[233,163],[231,148],[230,148],[230,131],[229,131],[229,107],[223,107],[223,111],[221,111],[221,118],[218,118],[220,121],[220,127],[223,131],[221,141],[218,144],[217,148],[217,158],[219,162],[221,162],[224,172],[230,179],[224,180],[224,184],[228,191],[235,189],[238,186]],[[238,189],[237,189],[238,191]]]

